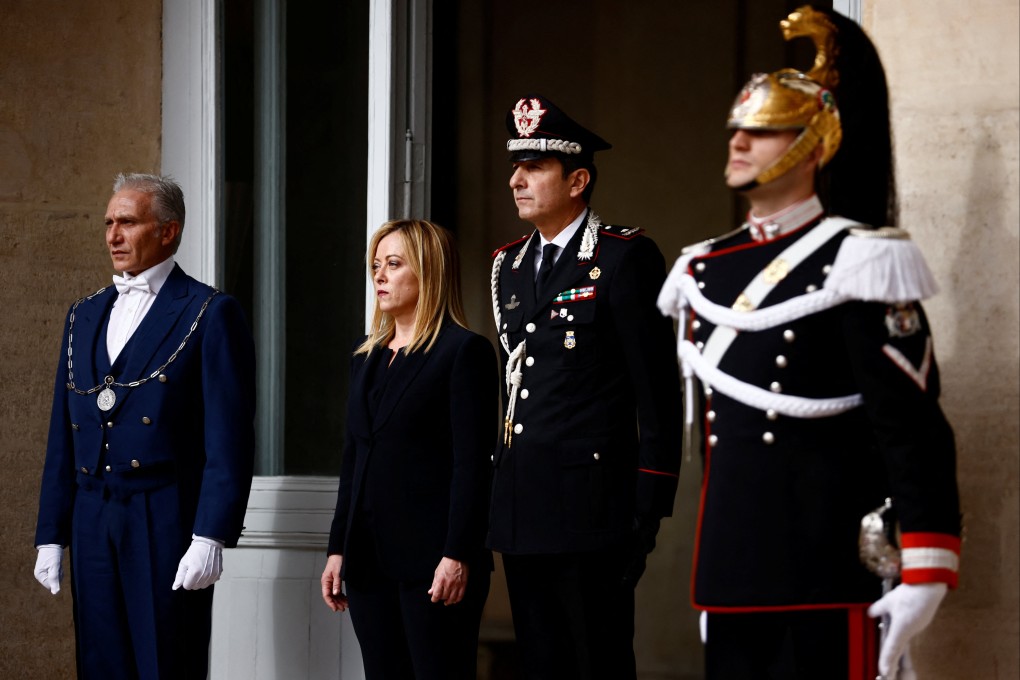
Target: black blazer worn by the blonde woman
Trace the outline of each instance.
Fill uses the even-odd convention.
[[[349,575],[378,564],[401,580],[429,578],[443,557],[491,568],[484,548],[491,455],[498,427],[496,353],[488,339],[447,323],[432,349],[398,358],[374,419],[367,398],[388,350],[354,355],[347,434],[329,555]],[[371,498],[372,557],[352,527]],[[353,548],[352,548],[353,545]],[[353,553],[353,555],[351,554]]]

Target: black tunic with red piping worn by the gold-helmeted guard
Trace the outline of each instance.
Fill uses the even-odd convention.
[[[745,229],[712,244],[690,273],[706,298],[729,307],[814,226],[765,243]],[[847,237],[846,229],[836,232],[793,268],[759,309],[821,289]],[[694,343],[715,328],[697,314],[690,327]],[[752,408],[718,389],[703,395],[696,606],[754,611],[873,601],[880,581],[861,565],[858,531],[886,496],[904,532],[959,536],[953,431],[938,406],[938,368],[918,303],[855,300],[741,331],[718,367],[776,394],[859,394],[863,405],[801,418]]]

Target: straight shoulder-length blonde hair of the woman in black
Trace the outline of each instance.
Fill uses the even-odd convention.
[[[439,224],[424,219],[389,221],[372,234],[368,244],[365,261],[369,278],[373,277],[372,262],[379,242],[391,233],[400,236],[407,264],[418,279],[414,331],[404,351],[407,354],[418,349],[428,352],[448,318],[457,325],[467,327],[460,293],[457,247],[453,234]],[[379,309],[376,298],[368,337],[354,353],[369,354],[375,348],[386,347],[393,339],[395,330],[393,317]]]

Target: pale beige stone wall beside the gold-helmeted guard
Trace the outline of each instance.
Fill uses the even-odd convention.
[[[960,588],[915,653],[931,680],[1020,669],[1018,4],[865,2],[891,93],[900,224],[941,285],[926,309],[959,450]]]

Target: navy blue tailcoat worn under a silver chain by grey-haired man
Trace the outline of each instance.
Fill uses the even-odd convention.
[[[80,300],[67,316],[36,544],[68,544],[79,486],[104,485],[125,496],[176,484],[177,507],[160,509],[176,518],[174,538],[187,546],[195,533],[233,547],[255,457],[255,349],[241,306],[175,265],[110,366],[106,326],[116,298],[108,286]],[[70,388],[69,335],[75,389],[106,376],[145,382],[112,386],[116,402],[101,411],[98,391]]]

